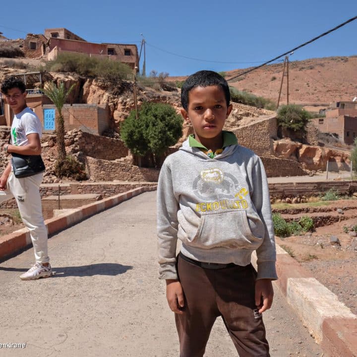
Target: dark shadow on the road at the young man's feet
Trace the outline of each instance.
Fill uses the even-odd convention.
[[[126,273],[127,270],[132,269],[131,265],[121,265],[117,263],[99,263],[81,266],[71,266],[71,267],[52,267],[54,272],[53,278],[64,278],[67,276],[93,276],[93,275],[119,275]],[[4,271],[16,271],[25,272],[28,268],[7,268],[0,267],[0,270]]]

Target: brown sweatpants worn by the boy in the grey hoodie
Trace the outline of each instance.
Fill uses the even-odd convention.
[[[254,313],[256,272],[251,264],[203,269],[179,256],[178,273],[185,297],[183,314],[175,314],[180,357],[203,357],[218,316],[239,357],[270,357],[262,317]]]

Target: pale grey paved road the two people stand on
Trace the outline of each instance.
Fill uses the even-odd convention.
[[[174,316],[157,279],[156,192],[146,192],[49,240],[55,276],[20,281],[33,250],[0,263],[0,356],[177,357]],[[322,351],[278,288],[264,313],[272,357]],[[206,357],[237,357],[220,320]]]

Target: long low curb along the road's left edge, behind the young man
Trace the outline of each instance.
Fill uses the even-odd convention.
[[[70,227],[81,220],[88,218],[96,213],[104,211],[107,208],[118,205],[143,192],[154,191],[157,186],[142,186],[115,196],[104,198],[100,201],[90,203],[78,208],[74,208],[45,221],[49,235],[52,235],[64,228]],[[15,254],[16,252],[31,245],[30,232],[27,228],[14,231],[6,236],[0,237],[0,260]]]

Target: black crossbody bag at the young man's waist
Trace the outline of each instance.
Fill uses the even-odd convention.
[[[11,134],[9,137],[9,143],[10,140]],[[13,173],[17,179],[42,173],[46,169],[41,155],[10,154],[12,156],[11,161]]]

